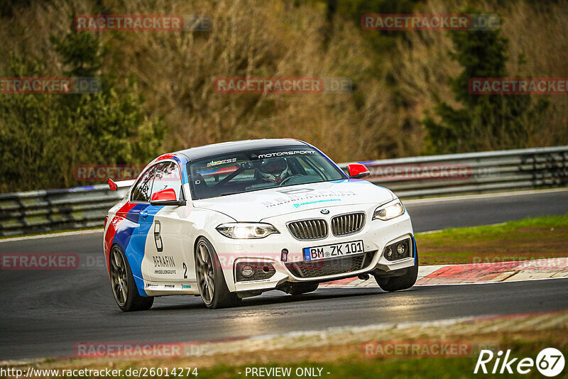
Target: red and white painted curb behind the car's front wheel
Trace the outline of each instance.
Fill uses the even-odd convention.
[[[568,258],[420,266],[416,285],[515,282],[553,278],[568,278]],[[320,287],[351,288],[378,287],[378,285],[371,276],[368,280],[347,278],[322,283]]]

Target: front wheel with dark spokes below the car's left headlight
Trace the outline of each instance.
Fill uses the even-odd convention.
[[[197,288],[209,309],[233,307],[239,302],[236,292],[226,286],[223,268],[212,244],[200,237],[195,247],[195,272]]]

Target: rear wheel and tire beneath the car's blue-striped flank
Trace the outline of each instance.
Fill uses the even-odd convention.
[[[122,312],[147,311],[152,307],[152,296],[141,296],[124,251],[114,245],[109,254],[111,290]]]

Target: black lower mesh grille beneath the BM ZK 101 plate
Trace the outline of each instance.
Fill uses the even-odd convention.
[[[320,276],[351,273],[371,264],[375,251],[357,256],[315,260],[312,262],[290,262],[286,267],[296,278],[317,278]]]

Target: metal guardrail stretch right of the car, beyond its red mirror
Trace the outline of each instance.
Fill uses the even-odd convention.
[[[568,185],[568,146],[372,160],[366,180],[401,198]],[[348,163],[339,165],[346,169]]]

